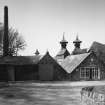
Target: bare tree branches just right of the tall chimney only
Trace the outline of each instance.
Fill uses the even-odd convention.
[[[9,53],[10,55],[18,54],[19,50],[24,50],[26,47],[26,42],[22,35],[19,34],[17,30],[13,28],[9,29]]]

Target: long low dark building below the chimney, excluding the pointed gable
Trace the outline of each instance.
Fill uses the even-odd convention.
[[[0,58],[0,81],[38,79],[40,56],[6,56]]]

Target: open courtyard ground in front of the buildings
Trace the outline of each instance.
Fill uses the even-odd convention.
[[[105,81],[10,83],[0,88],[0,105],[81,105],[81,88],[97,85]]]

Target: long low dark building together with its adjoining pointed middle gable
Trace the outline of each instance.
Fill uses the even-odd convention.
[[[47,52],[44,56],[0,58],[0,81],[65,80],[67,72]]]

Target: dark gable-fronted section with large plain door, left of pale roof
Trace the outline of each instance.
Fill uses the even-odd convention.
[[[38,63],[39,80],[66,80],[67,72],[47,52]]]

